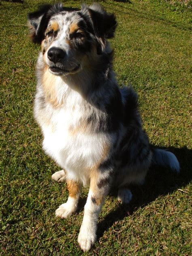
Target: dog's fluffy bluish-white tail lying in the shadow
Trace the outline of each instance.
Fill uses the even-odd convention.
[[[172,171],[179,173],[180,166],[176,156],[163,149],[153,149],[152,162],[160,166],[170,167]]]

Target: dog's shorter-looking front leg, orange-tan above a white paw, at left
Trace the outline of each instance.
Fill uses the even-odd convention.
[[[81,184],[76,181],[67,180],[67,188],[69,192],[67,202],[60,205],[60,207],[55,211],[55,215],[60,218],[67,218],[75,213],[79,202],[79,196],[81,194]]]

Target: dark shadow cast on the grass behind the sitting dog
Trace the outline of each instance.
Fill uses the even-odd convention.
[[[151,166],[145,184],[130,187],[133,194],[130,204],[119,204],[115,211],[111,211],[104,220],[98,223],[98,239],[116,221],[132,215],[139,207],[145,207],[159,196],[172,193],[190,183],[192,179],[192,150],[186,147],[181,149],[169,147],[169,151],[177,156],[181,167],[180,173],[177,174],[166,168]],[[116,194],[110,194],[110,196],[117,196],[117,191]]]

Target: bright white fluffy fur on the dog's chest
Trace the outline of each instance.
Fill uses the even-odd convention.
[[[40,112],[43,122],[39,118]],[[59,108],[48,104],[43,110],[36,106],[36,118],[44,135],[43,149],[62,169],[67,170],[68,179],[87,184],[90,170],[105,155],[109,137],[103,133],[75,130],[75,127],[81,128],[83,114],[77,102],[76,105],[75,102],[66,102]]]

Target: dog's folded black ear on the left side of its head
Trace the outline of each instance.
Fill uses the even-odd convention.
[[[55,13],[63,11],[62,4],[41,6],[38,11],[28,14],[28,24],[30,29],[30,37],[34,43],[41,43],[45,37],[45,30],[49,23],[49,19]]]

